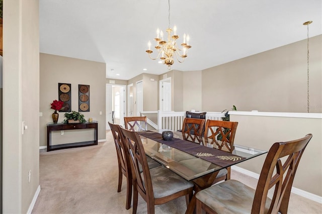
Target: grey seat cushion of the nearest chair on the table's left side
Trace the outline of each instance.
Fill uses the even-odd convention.
[[[193,187],[193,183],[180,177],[170,169],[159,166],[150,169],[154,198],[161,198]],[[142,178],[143,173],[141,173]]]

